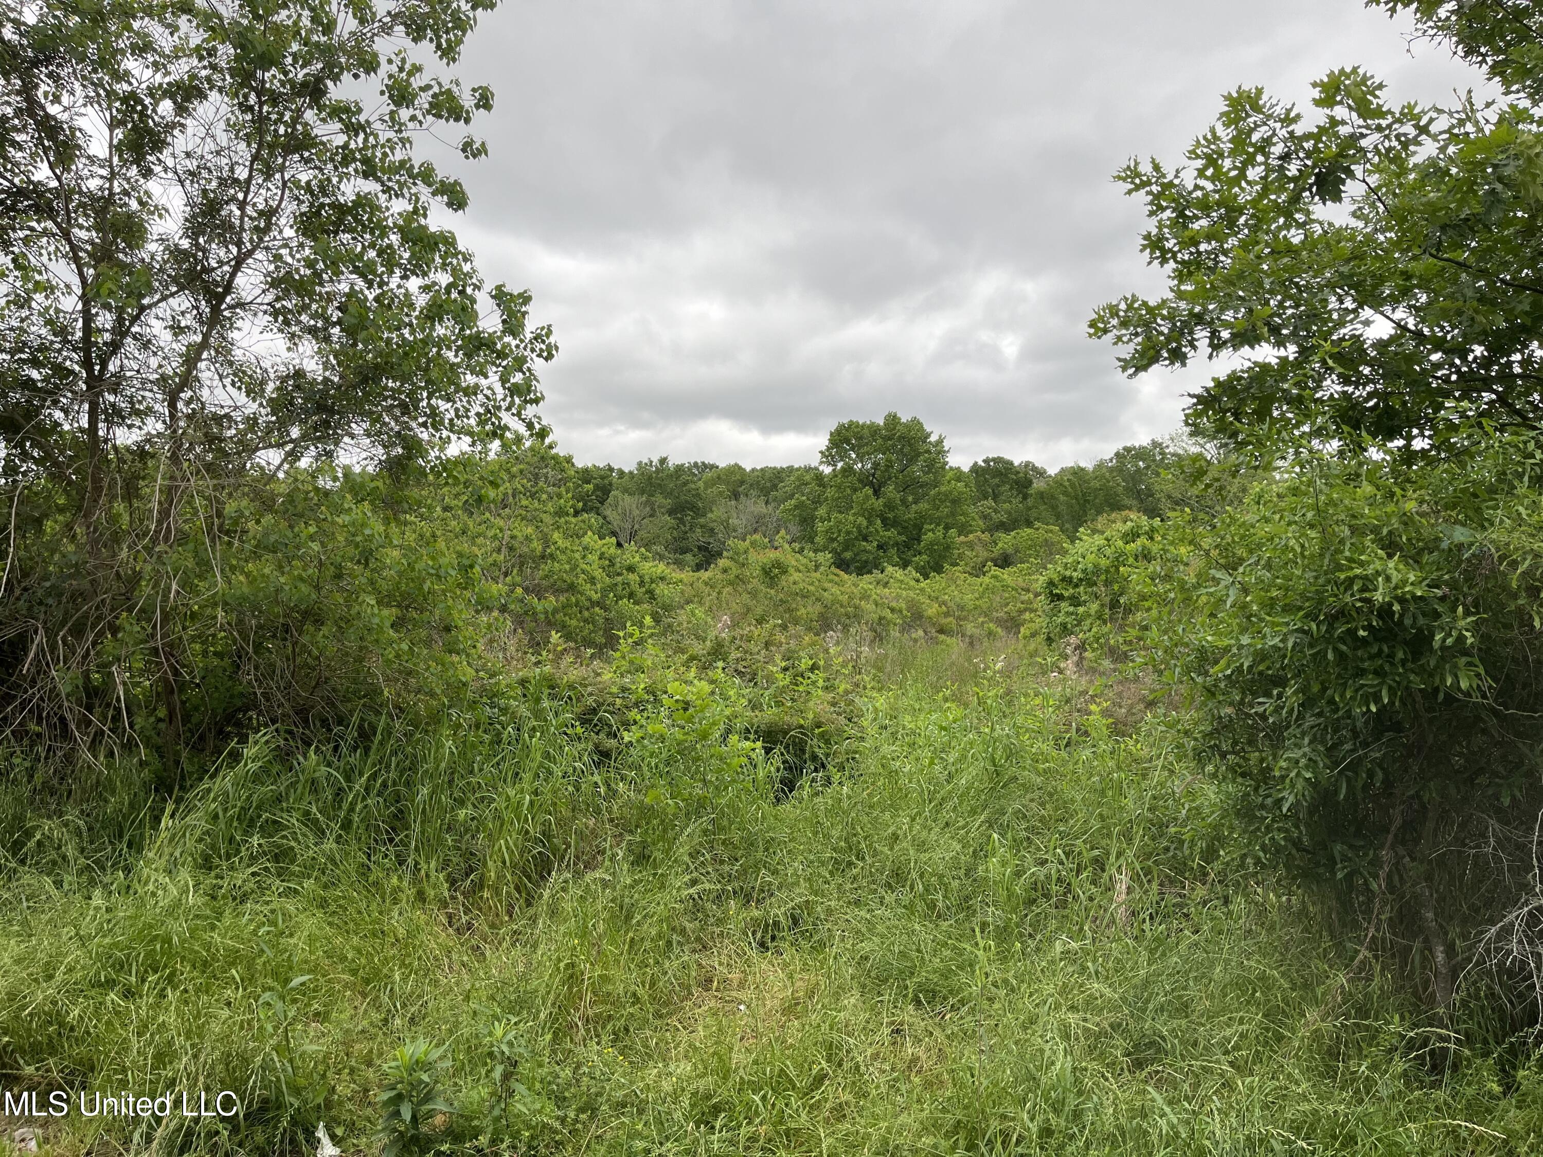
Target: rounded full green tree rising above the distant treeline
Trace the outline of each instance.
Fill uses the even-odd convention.
[[[980,529],[969,475],[949,467],[943,437],[920,418],[887,413],[883,421],[839,423],[819,461],[826,477],[813,512],[815,545],[842,569],[941,571],[954,560],[958,535]],[[788,517],[798,521],[799,511]]]

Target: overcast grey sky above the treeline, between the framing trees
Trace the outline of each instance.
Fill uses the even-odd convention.
[[[815,461],[886,410],[958,464],[1092,461],[1205,379],[1086,338],[1162,284],[1109,174],[1237,85],[1472,83],[1407,31],[1359,0],[505,0],[460,69],[497,110],[457,228],[554,326],[579,461]]]

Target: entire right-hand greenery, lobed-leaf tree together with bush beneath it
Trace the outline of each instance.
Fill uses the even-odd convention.
[[[1362,915],[1361,953],[1381,936],[1432,1004],[1487,960],[1504,1000],[1524,981],[1543,1007],[1520,884],[1543,808],[1543,26],[1521,0],[1381,6],[1508,100],[1395,108],[1344,69],[1312,120],[1241,89],[1188,168],[1122,173],[1170,293],[1109,304],[1092,332],[1133,373],[1234,359],[1190,421],[1258,471],[1111,574],[1251,852]],[[1096,546],[1052,568],[1052,605]]]

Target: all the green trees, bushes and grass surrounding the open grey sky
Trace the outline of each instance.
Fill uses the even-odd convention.
[[[491,3],[0,14],[0,1154],[1537,1152],[1543,8],[1123,168],[1051,472],[576,463]]]

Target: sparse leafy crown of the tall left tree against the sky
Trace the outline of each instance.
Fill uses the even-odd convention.
[[[471,256],[429,221],[466,193],[412,160],[415,133],[492,105],[423,59],[452,63],[480,11],[8,12],[9,480],[83,487],[91,521],[111,460],[137,446],[227,463],[343,444],[401,454],[522,415],[546,333],[503,287],[497,324],[481,324]],[[349,88],[363,77],[380,83],[373,110]],[[460,148],[485,151],[474,137]]]

